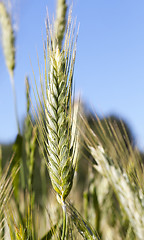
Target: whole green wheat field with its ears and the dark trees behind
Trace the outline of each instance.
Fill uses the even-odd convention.
[[[18,131],[13,144],[0,147],[0,239],[143,240],[143,154],[124,121],[101,119],[74,98],[78,29],[72,8],[58,0],[53,24],[47,16],[40,82],[35,74],[35,84],[25,80],[22,131],[15,36],[3,2],[0,24]]]

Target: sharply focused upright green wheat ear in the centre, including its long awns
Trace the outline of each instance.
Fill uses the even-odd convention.
[[[41,79],[41,99],[38,88],[35,114],[43,146],[47,153],[47,166],[52,186],[60,204],[65,205],[72,184],[78,152],[77,112],[72,110],[72,82],[76,56],[76,39],[68,17],[64,44],[60,49],[56,45],[57,36],[49,21],[47,29],[47,49],[44,47],[45,81]],[[37,99],[36,99],[37,100]],[[40,102],[40,106],[39,103]]]

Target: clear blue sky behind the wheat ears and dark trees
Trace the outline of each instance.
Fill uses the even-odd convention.
[[[68,3],[72,1],[69,0]],[[37,80],[37,52],[43,67],[42,34],[46,6],[50,19],[56,0],[13,0],[16,31],[15,85],[19,119],[26,113],[25,76]],[[144,1],[73,0],[73,16],[80,22],[75,66],[75,89],[82,99],[104,115],[126,120],[144,148]],[[0,48],[0,142],[17,134],[13,96]]]

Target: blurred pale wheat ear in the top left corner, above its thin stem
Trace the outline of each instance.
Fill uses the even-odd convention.
[[[2,2],[0,2],[0,25],[6,65],[10,75],[13,75],[13,70],[15,68],[15,37],[10,15]]]

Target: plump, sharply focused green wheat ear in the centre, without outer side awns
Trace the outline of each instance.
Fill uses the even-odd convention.
[[[50,44],[53,43],[54,38],[49,37],[50,35],[48,36],[49,87],[46,90],[45,103],[48,130],[46,143],[51,182],[60,203],[63,204],[72,187],[74,159],[78,147],[76,132],[72,131],[77,116],[72,122],[71,112],[75,47],[71,51],[69,27],[61,51],[58,45],[54,48]]]

